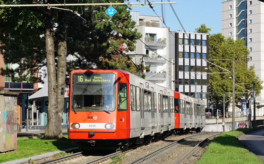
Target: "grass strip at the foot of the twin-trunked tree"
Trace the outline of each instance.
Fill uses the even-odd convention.
[[[47,152],[76,147],[77,144],[66,137],[58,140],[45,140],[41,138],[17,138],[17,150],[0,154],[0,163],[40,155]]]

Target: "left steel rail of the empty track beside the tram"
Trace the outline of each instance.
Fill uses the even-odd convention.
[[[132,162],[130,162],[128,164],[144,163],[145,159],[149,159],[149,158],[159,154],[160,152],[162,152],[162,151],[164,151],[166,149],[169,149],[169,148],[171,148],[171,147],[173,147],[173,146],[185,141],[186,139],[189,139],[189,138],[192,138],[192,137],[196,137],[196,136],[200,136],[200,135],[209,134],[209,133],[215,133],[215,132],[205,132],[205,133],[200,133],[200,134],[196,134],[196,135],[191,135],[191,136],[188,136],[186,138],[182,138],[182,139],[180,139],[178,141],[174,141],[174,142],[172,142],[172,143],[170,143],[170,144],[168,144],[166,146],[163,146],[163,147],[161,147],[161,148],[159,148],[159,149],[157,149],[157,150],[155,150],[155,151],[153,151],[153,152],[151,152],[151,153],[149,153],[147,155],[144,155],[144,156],[142,156],[142,157],[140,157],[140,158],[138,158],[138,159],[136,159],[136,160],[134,160],[134,161],[132,161]]]

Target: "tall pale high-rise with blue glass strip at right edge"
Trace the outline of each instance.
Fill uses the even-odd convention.
[[[245,40],[250,52],[248,66],[255,66],[256,74],[264,81],[264,3],[259,0],[224,0],[222,34],[225,38]],[[263,115],[264,90],[256,97],[256,104],[256,115]]]

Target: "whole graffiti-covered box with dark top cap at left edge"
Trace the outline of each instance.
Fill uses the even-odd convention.
[[[18,94],[0,91],[0,152],[17,148],[16,105]]]

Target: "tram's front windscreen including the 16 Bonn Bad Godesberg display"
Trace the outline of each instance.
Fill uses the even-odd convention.
[[[74,73],[72,76],[72,110],[113,111],[115,109],[113,73]]]

